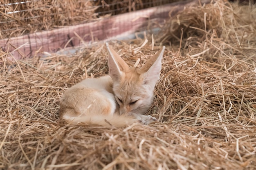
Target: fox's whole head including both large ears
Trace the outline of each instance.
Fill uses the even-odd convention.
[[[113,80],[113,92],[119,104],[119,113],[145,114],[150,108],[154,88],[159,79],[164,47],[140,69],[129,68],[125,61],[107,45],[109,75]]]

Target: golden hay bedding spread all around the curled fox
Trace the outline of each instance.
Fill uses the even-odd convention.
[[[108,72],[102,44],[71,57],[7,61],[1,54],[0,168],[255,169],[255,5],[220,0],[172,18],[155,36],[155,50],[169,46],[149,111],[161,123],[150,126],[106,129],[58,120],[67,87]],[[143,42],[112,45],[140,66],[155,52],[150,43],[133,50]]]

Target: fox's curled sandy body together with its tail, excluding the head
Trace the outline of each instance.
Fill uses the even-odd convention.
[[[88,78],[68,89],[60,100],[61,118],[71,124],[86,123],[120,127],[137,122],[132,116],[119,116],[110,76]]]

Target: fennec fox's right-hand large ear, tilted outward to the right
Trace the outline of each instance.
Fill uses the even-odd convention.
[[[159,79],[160,71],[162,68],[162,57],[164,54],[165,46],[163,46],[154,56],[139,69],[139,74],[144,78],[144,84],[151,84],[155,87],[155,83]]]

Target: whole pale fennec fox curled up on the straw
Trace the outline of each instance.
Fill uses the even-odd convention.
[[[120,127],[155,120],[144,114],[153,102],[165,47],[140,69],[129,66],[106,43],[109,75],[88,78],[68,89],[60,100],[60,115],[70,124],[84,122]]]

